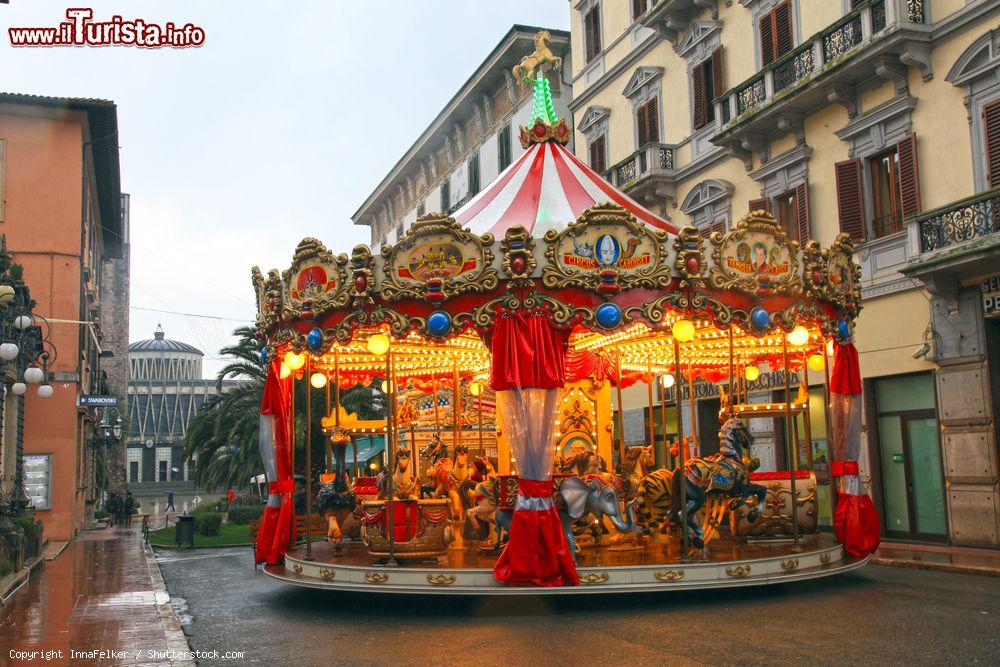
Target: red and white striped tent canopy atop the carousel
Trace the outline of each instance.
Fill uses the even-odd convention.
[[[521,225],[535,237],[564,229],[594,204],[614,202],[654,229],[677,228],[633,201],[555,141],[531,148],[490,185],[455,212],[463,227],[503,238]]]

